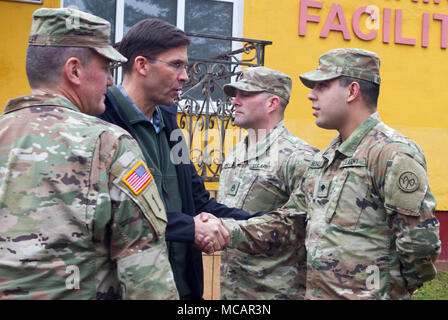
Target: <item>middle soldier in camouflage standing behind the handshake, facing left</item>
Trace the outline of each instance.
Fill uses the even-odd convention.
[[[219,199],[229,207],[250,213],[272,211],[288,201],[306,163],[317,151],[294,136],[283,123],[291,78],[266,67],[249,68],[243,71],[241,80],[225,85],[224,91],[234,97],[235,124],[245,128],[248,135],[224,161]],[[304,237],[300,246],[281,251],[258,254],[246,254],[236,248],[222,251],[221,298],[303,299],[306,274],[303,240]]]

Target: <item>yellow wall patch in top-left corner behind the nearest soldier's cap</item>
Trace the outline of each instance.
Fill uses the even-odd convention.
[[[31,92],[25,73],[25,58],[32,15],[40,7],[58,8],[60,0],[43,4],[0,1],[0,112],[6,102]]]

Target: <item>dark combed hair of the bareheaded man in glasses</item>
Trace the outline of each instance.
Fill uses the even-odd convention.
[[[144,19],[129,29],[118,45],[118,51],[128,58],[123,63],[123,72],[132,70],[137,56],[157,59],[168,49],[189,45],[190,39],[176,26],[160,19]]]

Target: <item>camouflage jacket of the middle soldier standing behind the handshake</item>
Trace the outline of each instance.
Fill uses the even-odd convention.
[[[221,203],[251,213],[271,211],[285,204],[306,162],[317,151],[289,132],[283,121],[248,151],[246,146],[247,137],[227,156],[218,196]],[[233,224],[232,220],[224,221],[235,228],[251,220],[233,220]],[[300,246],[256,254],[227,248],[221,253],[221,298],[303,299],[305,257],[304,241]]]

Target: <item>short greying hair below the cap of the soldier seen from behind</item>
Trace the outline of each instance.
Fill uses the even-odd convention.
[[[26,75],[31,88],[53,88],[60,80],[62,68],[71,57],[88,64],[95,52],[90,48],[28,46]]]

